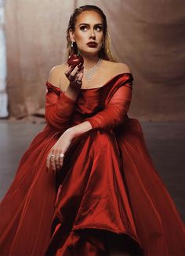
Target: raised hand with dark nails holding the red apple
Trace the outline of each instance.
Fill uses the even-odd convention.
[[[72,87],[78,88],[78,90],[82,87],[82,78],[84,74],[84,67],[79,64],[75,68],[73,66],[69,66],[69,68],[65,71],[65,75],[67,79],[70,81]]]

